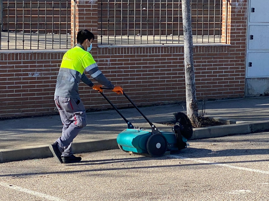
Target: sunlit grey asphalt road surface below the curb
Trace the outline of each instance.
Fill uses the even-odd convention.
[[[268,132],[189,141],[151,158],[108,150],[0,164],[0,200],[268,201]]]

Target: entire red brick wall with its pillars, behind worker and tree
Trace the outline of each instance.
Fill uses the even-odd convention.
[[[229,45],[194,47],[198,99],[244,96],[246,7],[246,0],[231,0],[227,5]],[[96,34],[97,2],[78,1],[77,10],[81,11],[76,14],[77,30],[87,28]],[[88,18],[89,24],[85,23]],[[92,54],[99,68],[112,83],[122,85],[137,105],[185,100],[183,46],[97,47],[96,42]],[[62,55],[55,51],[0,53],[0,117],[55,113],[53,94]],[[83,83],[79,90],[86,109],[111,107]],[[123,96],[105,93],[118,107],[130,105]]]

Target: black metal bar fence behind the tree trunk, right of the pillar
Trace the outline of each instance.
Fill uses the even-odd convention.
[[[98,44],[183,43],[181,0],[98,0]],[[220,43],[222,0],[191,0],[194,43]]]

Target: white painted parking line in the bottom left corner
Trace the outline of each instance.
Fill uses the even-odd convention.
[[[29,190],[29,189],[26,189],[26,188],[22,188],[22,187],[19,187],[19,186],[7,184],[7,183],[1,182],[1,181],[0,181],[0,185],[3,186],[3,187],[11,188],[11,189],[16,190],[16,191],[20,191],[20,192],[28,193],[30,195],[38,196],[40,198],[45,198],[47,200],[66,201],[66,200],[63,200],[61,198],[56,198],[54,196],[50,196],[50,195],[47,195],[47,194],[44,194],[44,193],[40,193],[40,192],[37,192],[37,191],[32,191],[32,190]]]

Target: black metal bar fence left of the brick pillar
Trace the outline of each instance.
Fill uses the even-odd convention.
[[[71,0],[0,0],[0,50],[71,47]]]

